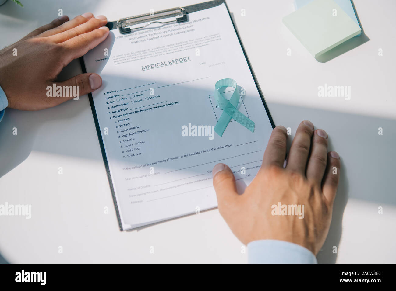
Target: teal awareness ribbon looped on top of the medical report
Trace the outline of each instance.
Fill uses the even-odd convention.
[[[223,95],[221,95],[221,93],[219,92],[219,89],[221,87],[235,88],[230,100],[227,100]],[[231,121],[232,118],[247,129],[249,129],[251,132],[254,132],[254,122],[247,118],[245,115],[243,115],[236,108],[239,103],[240,94],[238,91],[238,85],[236,84],[235,80],[227,78],[217,81],[215,84],[215,97],[217,105],[219,105],[220,108],[223,109],[223,113],[221,113],[219,121],[217,121],[217,124],[215,126],[215,132],[220,137],[223,135],[224,130],[226,129],[228,123]]]

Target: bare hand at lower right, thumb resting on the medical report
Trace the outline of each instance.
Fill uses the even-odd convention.
[[[283,240],[315,255],[326,240],[339,181],[340,159],[327,153],[328,137],[310,121],[300,123],[286,156],[286,128],[272,131],[257,176],[242,195],[225,164],[213,168],[213,186],[220,214],[244,244],[255,240]],[[299,215],[273,215],[273,205],[304,205]],[[278,210],[277,210],[278,212]],[[301,216],[302,217],[302,216]]]

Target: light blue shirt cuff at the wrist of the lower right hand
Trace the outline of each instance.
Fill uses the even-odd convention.
[[[282,240],[256,240],[247,244],[249,264],[317,264],[315,255],[298,244]]]

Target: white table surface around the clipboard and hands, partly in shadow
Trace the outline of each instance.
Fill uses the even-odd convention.
[[[58,9],[70,18],[90,11],[116,20],[199,0],[21,2],[25,8],[10,0],[0,6],[0,47],[49,23]],[[396,263],[396,2],[355,0],[367,38],[352,40],[352,49],[325,63],[311,57],[282,24],[282,17],[294,11],[292,0],[227,4],[276,125],[291,127],[294,134],[300,121],[309,119],[327,131],[330,149],[341,156],[333,221],[319,263]],[[74,61],[62,76],[80,72]],[[351,86],[351,99],[318,97],[317,88],[325,83]],[[32,205],[31,219],[0,217],[0,252],[11,263],[247,261],[242,243],[217,209],[139,231],[118,230],[86,96],[78,106],[67,102],[36,112],[6,110],[0,123],[0,177],[0,204]]]

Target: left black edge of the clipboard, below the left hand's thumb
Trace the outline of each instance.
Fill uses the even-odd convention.
[[[79,59],[80,59],[82,72],[85,74],[85,73],[87,73],[87,70],[85,68],[84,59],[83,59],[83,57],[80,57]],[[97,118],[95,104],[93,103],[92,93],[88,93],[88,98],[89,98],[89,104],[91,105],[93,121],[95,122],[96,133],[97,133],[98,139],[99,139],[99,144],[100,144],[100,149],[101,149],[101,152],[102,152],[103,162],[105,163],[107,180],[109,180],[111,196],[113,198],[114,208],[115,208],[116,214],[117,214],[118,226],[120,227],[120,231],[124,231],[124,229],[122,228],[120,212],[118,210],[116,193],[114,192],[114,186],[113,186],[113,182],[112,182],[111,175],[110,175],[109,162],[107,161],[105,144],[103,143],[102,131],[101,131],[100,127],[99,127],[99,120]]]

